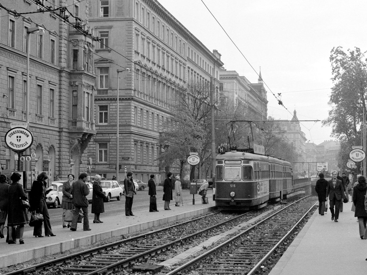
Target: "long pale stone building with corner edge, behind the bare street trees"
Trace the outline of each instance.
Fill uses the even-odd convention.
[[[217,51],[208,50],[158,1],[90,1],[89,22],[97,44],[94,93],[97,134],[91,140],[92,174],[116,175],[116,151],[134,178],[147,182],[150,174],[164,179],[157,158],[162,127],[172,115],[179,93],[196,83],[219,89]],[[117,69],[119,79],[117,79]],[[117,147],[117,81],[119,81],[119,148]],[[171,172],[178,173],[172,167]],[[163,176],[163,178],[160,178]]]

